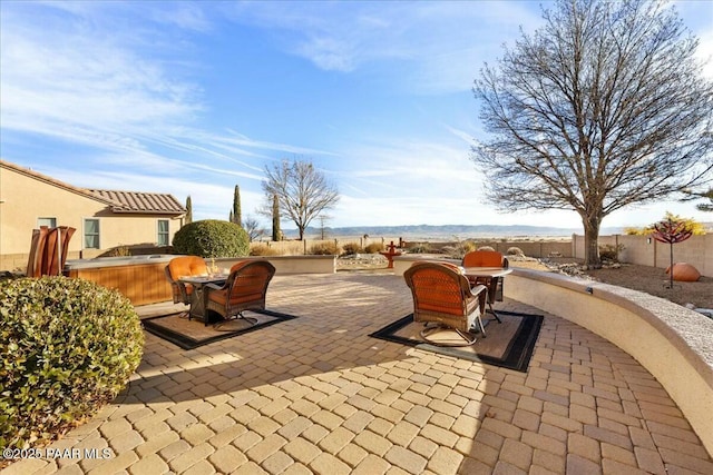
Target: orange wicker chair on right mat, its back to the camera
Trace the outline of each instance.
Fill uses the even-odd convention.
[[[476,329],[485,337],[482,315],[486,309],[487,288],[471,288],[468,278],[457,266],[440,263],[416,263],[403,274],[413,296],[413,321],[423,321],[421,338],[437,346],[468,346],[477,338],[469,331]],[[430,335],[452,329],[465,344],[442,344]]]

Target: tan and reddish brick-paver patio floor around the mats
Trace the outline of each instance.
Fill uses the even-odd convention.
[[[525,374],[370,338],[412,309],[393,275],[277,276],[267,304],[300,318],[194,350],[147,334],[128,389],[58,458],[3,474],[713,473],[661,385],[561,318]]]

